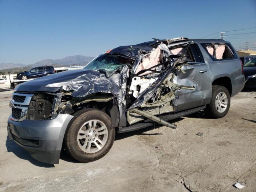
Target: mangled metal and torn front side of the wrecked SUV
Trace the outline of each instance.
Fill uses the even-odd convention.
[[[182,47],[170,51],[168,46],[177,42]],[[175,38],[155,40],[150,46],[118,47],[94,59],[85,67],[90,71],[63,85],[62,91],[71,92],[72,105],[116,98],[120,117],[127,116],[130,125],[148,118],[176,128],[155,115],[174,111],[172,100],[176,90],[195,88],[174,83],[175,70],[184,72],[181,68],[189,61],[189,44],[186,38]],[[104,69],[98,67],[102,61]],[[99,100],[97,93],[110,95],[100,96]],[[125,126],[125,122],[126,118],[120,118],[119,126]]]

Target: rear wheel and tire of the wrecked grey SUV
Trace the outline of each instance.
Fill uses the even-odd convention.
[[[226,98],[224,97],[226,94]],[[218,99],[218,98],[220,99]],[[222,100],[222,98],[225,98]],[[224,108],[226,106],[226,108]],[[212,118],[224,117],[230,108],[230,94],[226,87],[213,85],[212,99],[210,104],[206,105],[205,114]]]

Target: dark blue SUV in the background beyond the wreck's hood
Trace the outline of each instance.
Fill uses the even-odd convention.
[[[42,67],[35,67],[29,71],[24,71],[22,73],[17,74],[17,79],[19,80],[26,80],[31,78],[42,77],[46,75],[50,75],[56,73],[52,66],[42,66]]]

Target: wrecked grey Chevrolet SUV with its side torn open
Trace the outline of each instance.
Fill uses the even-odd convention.
[[[16,87],[8,136],[33,158],[57,164],[64,148],[80,162],[102,158],[116,132],[168,122],[204,110],[225,116],[244,87],[241,62],[229,42],[154,39],[114,48],[83,70]]]

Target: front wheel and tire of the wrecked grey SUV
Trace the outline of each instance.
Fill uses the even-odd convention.
[[[73,116],[74,118],[68,124],[64,137],[65,148],[68,154],[80,162],[92,162],[105,156],[112,147],[115,139],[115,129],[110,129],[110,117],[106,113],[96,109],[83,109],[74,113]],[[84,126],[90,120],[93,121]],[[94,122],[97,122],[96,128],[93,128]],[[98,131],[102,128],[104,130]],[[103,132],[107,132],[107,134],[103,134]],[[94,141],[92,141],[93,139]],[[96,146],[96,143],[98,146]],[[99,150],[100,147],[102,148]]]

